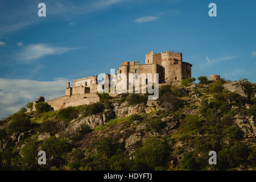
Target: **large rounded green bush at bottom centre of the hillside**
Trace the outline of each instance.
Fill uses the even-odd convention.
[[[135,170],[154,170],[158,167],[166,167],[169,157],[168,144],[158,140],[156,137],[149,137],[133,153]]]

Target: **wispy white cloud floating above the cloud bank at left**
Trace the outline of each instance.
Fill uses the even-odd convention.
[[[18,53],[18,58],[23,61],[23,63],[30,63],[32,60],[39,59],[40,57],[47,55],[60,55],[67,51],[75,50],[76,48],[69,47],[53,47],[48,44],[30,44],[22,51]]]

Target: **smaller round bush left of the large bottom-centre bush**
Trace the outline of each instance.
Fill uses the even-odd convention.
[[[114,139],[111,137],[101,138],[98,141],[96,148],[100,154],[104,154],[107,158],[110,158],[112,155],[114,155],[116,151]]]

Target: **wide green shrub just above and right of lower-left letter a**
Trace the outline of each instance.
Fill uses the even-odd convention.
[[[48,158],[52,155],[54,157],[61,157],[65,152],[71,150],[71,144],[67,143],[64,139],[56,138],[55,136],[50,137],[41,145],[42,150],[46,152]]]

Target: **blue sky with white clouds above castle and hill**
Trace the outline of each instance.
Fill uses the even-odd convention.
[[[46,3],[46,17],[38,4]],[[217,5],[217,17],[208,5]],[[179,51],[192,77],[256,82],[256,1],[0,0],[0,118],[68,81],[149,51]]]

